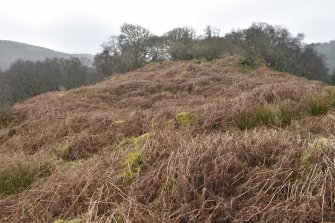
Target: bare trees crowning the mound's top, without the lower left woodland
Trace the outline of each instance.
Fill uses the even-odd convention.
[[[95,57],[94,64],[103,74],[123,73],[163,60],[210,61],[241,55],[243,63],[251,66],[264,63],[277,71],[331,81],[322,57],[312,45],[304,44],[304,36],[293,36],[280,26],[257,23],[224,36],[210,26],[201,35],[190,27],[180,27],[157,36],[133,24],[124,24],[120,31],[102,44],[103,51]]]

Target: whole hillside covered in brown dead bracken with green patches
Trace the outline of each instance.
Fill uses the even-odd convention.
[[[0,124],[0,221],[334,221],[334,99],[235,58],[31,98]]]

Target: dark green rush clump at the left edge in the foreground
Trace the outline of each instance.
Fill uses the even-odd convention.
[[[37,171],[26,165],[15,165],[0,172],[0,196],[19,193],[35,180]]]

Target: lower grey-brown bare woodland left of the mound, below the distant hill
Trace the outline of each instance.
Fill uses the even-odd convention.
[[[78,58],[18,60],[0,71],[0,117],[15,102],[48,92],[66,90],[100,81],[103,76]]]

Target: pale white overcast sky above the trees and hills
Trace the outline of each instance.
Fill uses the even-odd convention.
[[[266,22],[304,33],[308,43],[328,42],[334,10],[335,0],[1,0],[0,39],[95,54],[124,22],[159,35],[185,25],[224,34]]]

